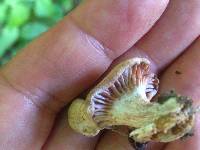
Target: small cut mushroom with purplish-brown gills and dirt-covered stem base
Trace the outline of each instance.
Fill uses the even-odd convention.
[[[127,126],[129,138],[139,143],[170,142],[187,135],[194,126],[194,108],[187,97],[174,92],[151,101],[159,80],[150,62],[133,58],[117,65],[86,99],[76,99],[68,111],[72,129],[95,136],[103,129]]]

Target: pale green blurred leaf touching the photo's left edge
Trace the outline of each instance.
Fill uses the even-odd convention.
[[[18,28],[3,28],[0,33],[0,57],[6,52],[8,48],[10,48],[19,37],[19,29]]]

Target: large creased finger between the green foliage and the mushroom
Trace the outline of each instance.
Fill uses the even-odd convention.
[[[0,105],[0,133],[7,135],[1,140],[9,142],[7,149],[39,149],[56,112],[145,34],[166,5],[167,0],[84,1],[22,50],[1,70],[6,105]]]

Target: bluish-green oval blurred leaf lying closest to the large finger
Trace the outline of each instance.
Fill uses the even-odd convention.
[[[22,40],[30,41],[41,33],[48,30],[48,26],[41,22],[32,22],[24,25],[21,29],[20,38]]]

